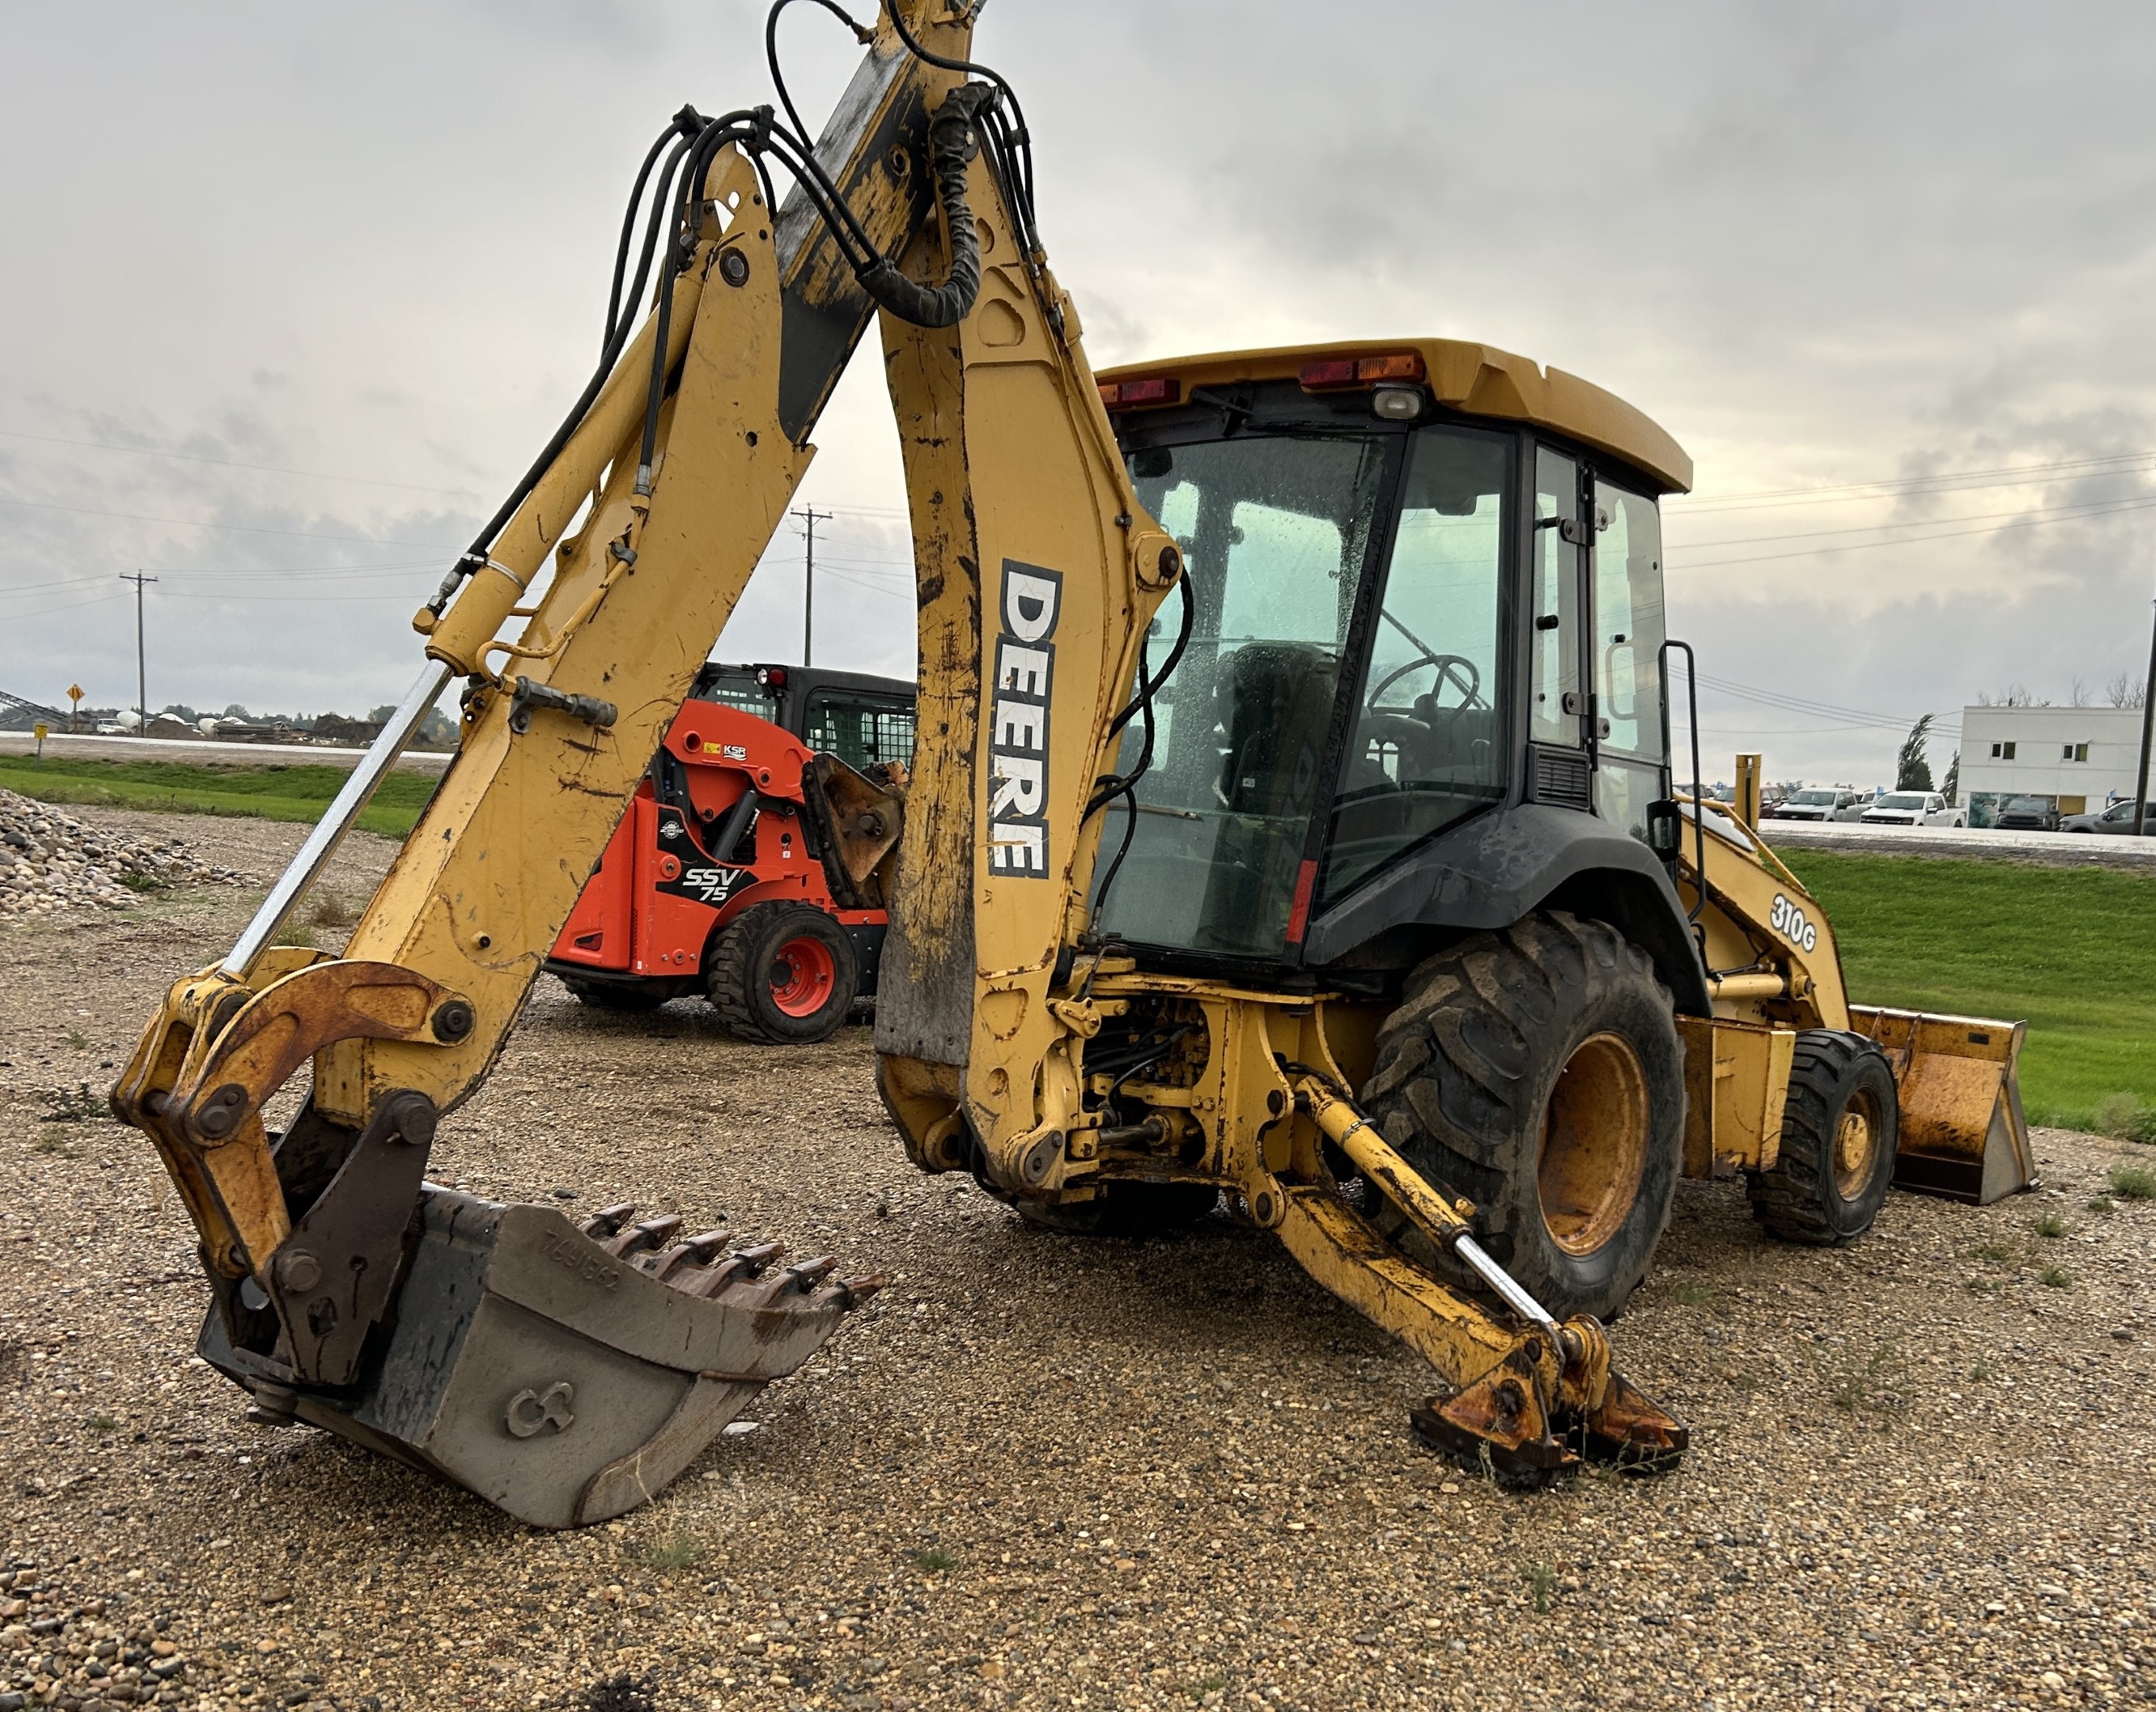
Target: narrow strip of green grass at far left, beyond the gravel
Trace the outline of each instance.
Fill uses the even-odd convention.
[[[0,755],[0,785],[39,802],[155,809],[170,815],[254,815],[313,826],[349,774],[308,765],[196,765],[192,761],[58,761]],[[358,826],[405,837],[433,796],[436,776],[392,772]]]

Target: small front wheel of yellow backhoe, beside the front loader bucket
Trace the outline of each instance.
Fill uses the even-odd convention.
[[[1807,1028],[1789,1063],[1789,1104],[1772,1171],[1753,1171],[1751,1203],[1768,1235],[1839,1248],[1887,1205],[1902,1110],[1878,1044]]]

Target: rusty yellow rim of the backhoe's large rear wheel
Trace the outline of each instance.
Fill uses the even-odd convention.
[[[1542,1223],[1567,1255],[1617,1235],[1647,1171],[1647,1072],[1621,1035],[1589,1035],[1565,1059],[1542,1117]]]

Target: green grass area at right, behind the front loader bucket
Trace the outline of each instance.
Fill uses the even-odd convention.
[[[1852,1000],[2029,1022],[2031,1121],[2098,1128],[2122,1093],[2156,1106],[2156,878],[1779,854],[1826,906]]]

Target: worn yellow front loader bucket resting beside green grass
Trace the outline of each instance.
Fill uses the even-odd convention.
[[[1880,1044],[1902,1091],[1899,1188],[1977,1207],[2035,1188],[2018,1074],[2027,1022],[1852,1005],[1850,1026]]]

